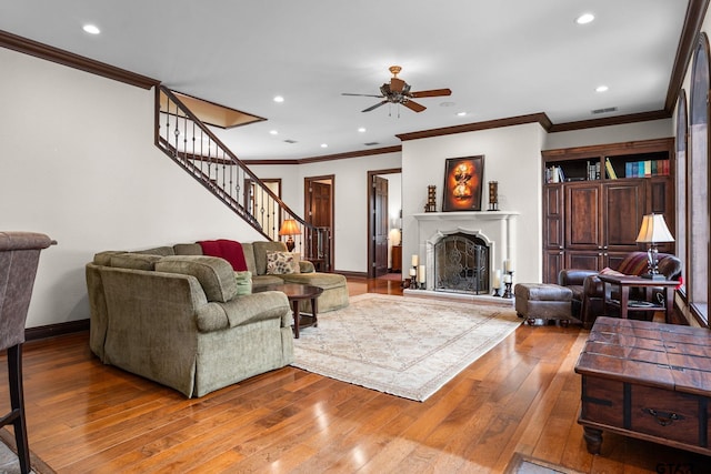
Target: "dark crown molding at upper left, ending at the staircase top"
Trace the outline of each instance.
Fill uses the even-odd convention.
[[[12,34],[3,30],[0,30],[0,47],[142,89],[151,89],[160,84],[160,81],[157,79],[137,74],[104,62],[94,61],[93,59],[84,58],[27,38],[18,37],[17,34]]]

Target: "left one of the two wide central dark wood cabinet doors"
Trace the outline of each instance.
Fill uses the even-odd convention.
[[[601,184],[565,186],[565,248],[594,248],[601,242]]]

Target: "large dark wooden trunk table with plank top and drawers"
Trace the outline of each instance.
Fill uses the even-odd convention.
[[[711,331],[600,316],[575,372],[590,453],[609,431],[711,455]]]

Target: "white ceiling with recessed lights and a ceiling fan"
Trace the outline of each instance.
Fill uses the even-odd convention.
[[[267,118],[218,135],[243,160],[400,144],[408,133],[544,112],[553,123],[659,111],[681,0],[0,0],[0,30]],[[595,21],[579,26],[583,12]],[[93,23],[101,34],[82,31]],[[428,109],[361,110],[392,64]],[[605,84],[608,92],[595,92]],[[272,98],[284,97],[283,103]],[[449,102],[450,107],[444,107]],[[618,111],[593,115],[592,110]],[[457,112],[467,112],[457,117]],[[358,132],[363,127],[367,132]],[[278,135],[269,133],[277,130]],[[294,140],[289,144],[284,140]],[[377,142],[375,145],[365,145]],[[328,148],[321,148],[328,143]]]

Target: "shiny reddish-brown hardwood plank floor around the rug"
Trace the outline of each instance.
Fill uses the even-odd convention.
[[[101,364],[88,333],[28,342],[30,448],[59,473],[500,473],[517,452],[584,473],[710,472],[709,457],[608,433],[588,454],[573,372],[585,336],[522,325],[423,403],[293,367],[187,400]]]

